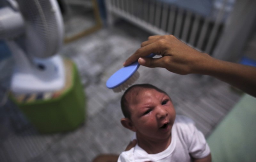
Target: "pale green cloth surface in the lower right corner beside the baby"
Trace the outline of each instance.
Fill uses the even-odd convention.
[[[207,142],[213,162],[256,162],[256,98],[245,94]]]

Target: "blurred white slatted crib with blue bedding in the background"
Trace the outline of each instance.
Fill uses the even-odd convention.
[[[243,26],[241,22],[248,15],[252,21],[256,15],[255,0],[237,0],[237,3],[235,0],[105,0],[105,4],[108,25],[123,18],[152,34],[172,34],[222,60],[239,58],[244,44],[240,42],[231,55],[236,44],[232,39],[245,41],[252,25]],[[239,34],[241,27],[244,30]],[[233,37],[228,39],[231,33]]]

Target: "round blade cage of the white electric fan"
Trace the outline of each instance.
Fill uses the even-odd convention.
[[[52,0],[17,0],[25,21],[26,50],[45,58],[56,54],[62,44],[63,22]]]

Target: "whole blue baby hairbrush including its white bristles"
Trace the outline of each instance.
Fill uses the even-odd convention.
[[[151,53],[147,57],[154,57],[155,55],[156,54]],[[140,74],[137,71],[139,67],[140,64],[138,61],[126,67],[122,67],[108,78],[106,83],[107,88],[112,89],[114,92],[125,90],[140,77]]]

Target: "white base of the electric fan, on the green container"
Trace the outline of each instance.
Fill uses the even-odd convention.
[[[37,68],[26,72],[15,69],[12,75],[11,91],[15,94],[52,92],[65,85],[65,67],[61,56],[35,60]]]

